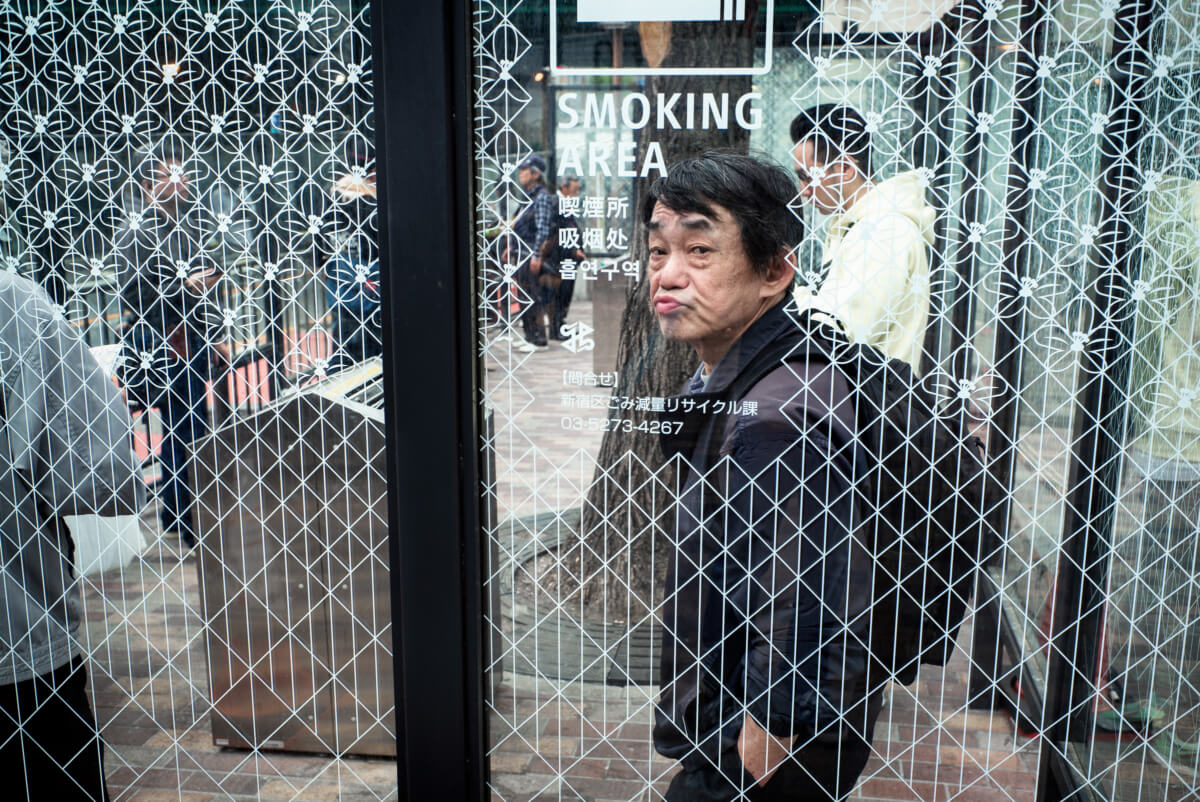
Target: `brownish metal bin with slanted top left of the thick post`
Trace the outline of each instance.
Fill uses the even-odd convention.
[[[193,465],[214,742],[395,755],[380,361],[217,430]]]

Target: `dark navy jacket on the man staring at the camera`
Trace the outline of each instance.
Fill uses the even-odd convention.
[[[862,456],[846,379],[824,361],[772,357],[779,366],[737,413],[713,414],[756,358],[796,337],[785,304],[750,327],[703,391],[667,405],[690,401],[691,412],[666,414],[683,421],[664,442],[683,461],[654,743],[685,765],[734,748],[746,713],[799,736],[797,748],[836,742],[850,734],[842,713],[866,696],[871,564],[854,532]]]

